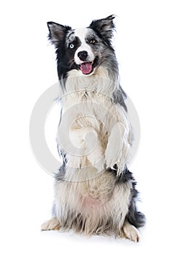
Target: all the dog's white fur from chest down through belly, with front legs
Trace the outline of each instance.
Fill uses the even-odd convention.
[[[117,185],[116,177],[107,173],[104,165],[117,164],[118,175],[124,170],[131,126],[123,108],[111,101],[117,80],[109,80],[104,68],[97,72],[101,76],[94,72],[87,77],[72,70],[66,80],[66,91],[62,91],[58,141],[66,151],[67,163],[65,181],[57,181],[55,186],[55,216],[61,226],[69,229],[74,217],[68,213],[76,216],[80,212],[87,234],[96,232],[101,219],[103,225],[98,233],[104,233],[102,228],[111,216],[112,230],[115,236],[120,236],[128,213],[131,183]]]

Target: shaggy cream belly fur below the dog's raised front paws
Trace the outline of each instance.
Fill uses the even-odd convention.
[[[55,217],[66,230],[117,233],[123,226],[130,195],[131,184],[117,185],[114,173],[107,171],[82,182],[57,181]]]

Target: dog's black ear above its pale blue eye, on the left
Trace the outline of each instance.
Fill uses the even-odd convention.
[[[63,40],[66,33],[72,29],[70,26],[63,26],[53,21],[47,22],[47,26],[50,31],[48,37],[56,48],[58,47],[58,44]]]

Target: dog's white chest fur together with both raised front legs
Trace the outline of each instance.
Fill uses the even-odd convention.
[[[124,170],[129,157],[131,125],[123,108],[111,102],[110,95],[116,86],[107,78],[107,72],[103,77],[69,72],[66,93],[61,97],[63,115],[58,132],[69,167],[92,165],[101,171],[104,164],[107,167],[117,164],[118,174]]]

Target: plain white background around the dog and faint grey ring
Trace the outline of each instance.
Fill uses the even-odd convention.
[[[169,1],[4,1],[1,3],[1,255],[167,255],[169,250]],[[28,138],[31,110],[57,81],[46,22],[75,27],[115,14],[121,85],[142,136],[131,165],[147,216],[142,240],[40,232],[50,217],[53,178]],[[58,113],[56,113],[56,116]],[[54,138],[55,139],[55,138]]]

